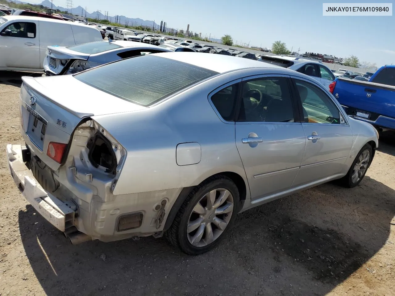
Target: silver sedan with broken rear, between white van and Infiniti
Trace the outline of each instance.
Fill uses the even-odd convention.
[[[96,41],[78,45],[48,46],[43,63],[47,76],[75,74],[123,58],[169,52],[167,48],[134,41]]]

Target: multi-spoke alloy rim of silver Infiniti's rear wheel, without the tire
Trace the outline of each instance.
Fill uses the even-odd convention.
[[[233,196],[224,188],[206,193],[194,206],[188,219],[186,236],[190,244],[204,247],[216,240],[233,214]]]

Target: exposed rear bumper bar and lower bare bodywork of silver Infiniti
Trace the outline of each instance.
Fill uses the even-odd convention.
[[[75,166],[62,166],[54,172],[60,189],[51,194],[24,163],[22,150],[21,145],[7,145],[8,165],[15,184],[36,211],[64,232],[73,244],[161,236],[170,209],[182,190],[109,195],[106,188],[94,187],[99,184],[95,176],[86,180],[86,172]],[[72,194],[68,200],[72,199],[73,204],[64,199],[66,191],[59,193],[62,188]]]

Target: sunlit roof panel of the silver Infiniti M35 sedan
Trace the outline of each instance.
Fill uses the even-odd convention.
[[[256,60],[250,60],[247,58],[238,58],[235,56],[226,56],[222,54],[201,54],[198,52],[162,52],[159,55],[164,58],[169,58],[171,60],[176,60],[179,62],[184,62],[194,66],[202,67],[215,71],[218,73],[224,73],[228,71],[235,71],[245,68],[276,68],[284,69],[284,67],[279,67],[271,65],[265,62],[260,62]],[[292,70],[288,70],[292,71]],[[293,71],[292,71],[293,72]]]

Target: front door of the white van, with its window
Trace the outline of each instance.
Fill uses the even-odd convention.
[[[1,36],[0,56],[7,57],[1,67],[40,69],[40,41],[38,21],[14,22],[4,28],[11,30],[11,36]]]

